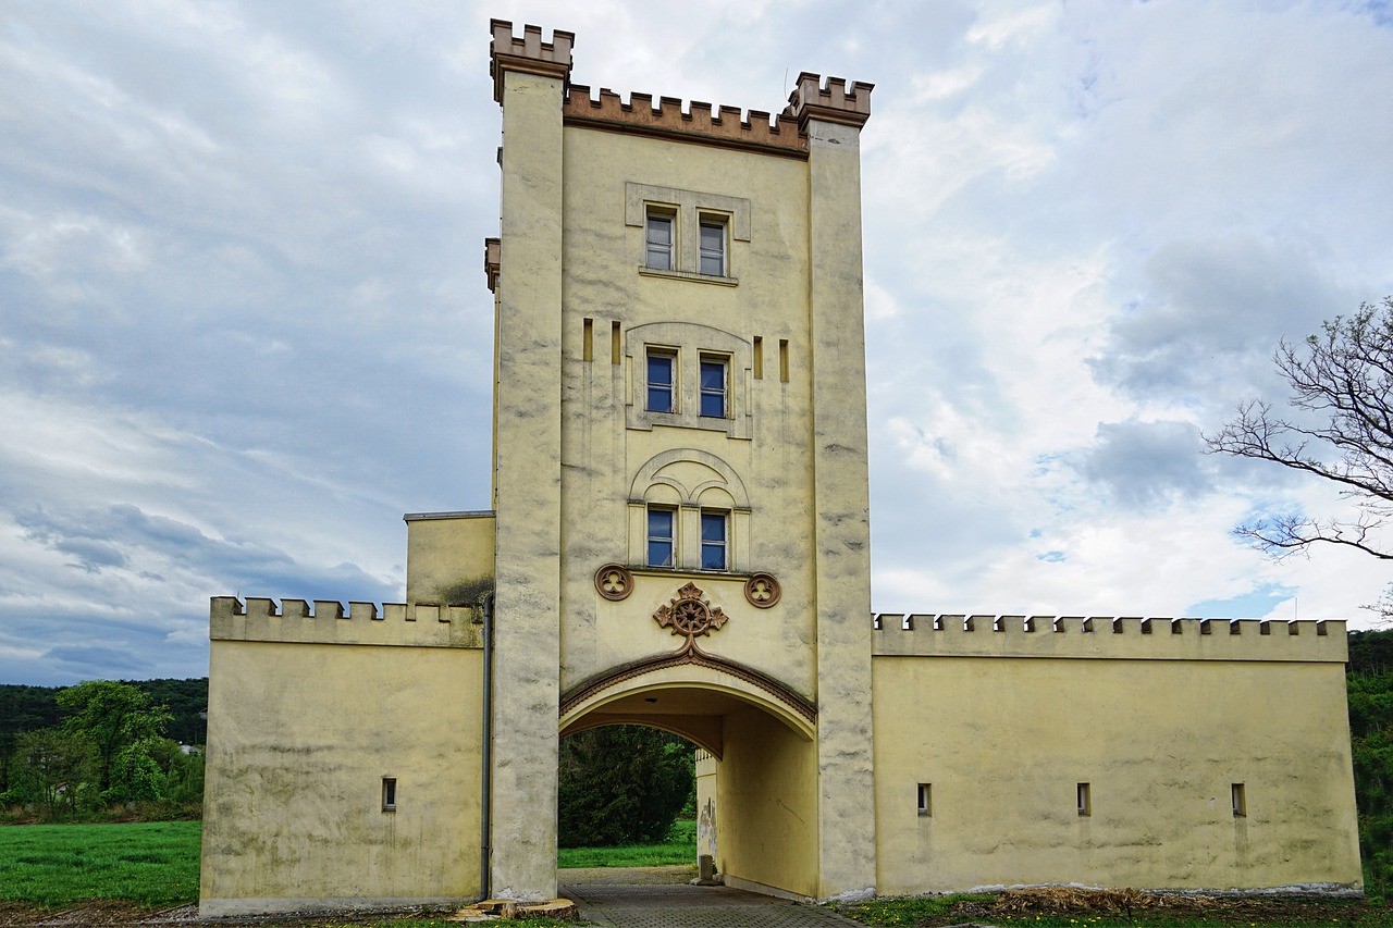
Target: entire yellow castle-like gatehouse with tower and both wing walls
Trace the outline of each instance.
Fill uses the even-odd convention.
[[[871,620],[871,85],[625,103],[571,42],[493,24],[492,509],[407,517],[403,605],[213,601],[203,913],[553,896],[614,722],[703,748],[731,885],[1357,888],[1340,623]]]

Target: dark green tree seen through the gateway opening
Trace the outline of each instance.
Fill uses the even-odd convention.
[[[561,740],[557,843],[653,844],[667,837],[695,784],[692,745],[632,725]]]

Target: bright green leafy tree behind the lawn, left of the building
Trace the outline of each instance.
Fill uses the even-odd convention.
[[[59,693],[64,732],[96,745],[98,783],[103,798],[157,798],[163,791],[150,752],[164,737],[170,713],[128,683],[88,680]]]

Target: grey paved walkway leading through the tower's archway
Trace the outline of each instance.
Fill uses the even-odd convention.
[[[691,886],[694,867],[561,869],[560,895],[581,918],[617,928],[850,928],[861,922],[726,886]],[[864,927],[861,927],[864,928]]]

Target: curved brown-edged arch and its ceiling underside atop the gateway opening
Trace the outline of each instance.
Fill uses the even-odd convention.
[[[781,722],[801,741],[816,737],[816,708],[777,680],[712,655],[680,660],[659,655],[616,667],[561,699],[560,734],[605,725],[646,725],[681,736],[720,759],[723,716],[751,706]]]

